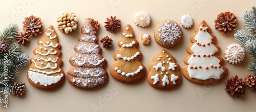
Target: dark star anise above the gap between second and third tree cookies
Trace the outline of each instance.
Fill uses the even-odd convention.
[[[116,19],[115,17],[110,16],[110,18],[106,18],[107,21],[104,23],[106,24],[104,27],[106,28],[106,31],[109,31],[113,33],[114,31],[118,31],[121,27],[120,20]]]

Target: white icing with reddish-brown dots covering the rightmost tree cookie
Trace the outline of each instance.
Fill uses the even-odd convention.
[[[200,30],[201,29],[201,30]],[[206,30],[206,31],[203,31]],[[207,32],[206,27],[200,26],[199,27],[199,32],[195,36],[195,40],[199,43],[207,43],[212,40],[211,35]],[[218,49],[214,46],[214,44],[209,44],[209,46],[198,46],[198,44],[193,44],[193,46],[190,48],[191,51],[194,52],[194,54],[198,55],[204,55],[204,54],[215,54],[218,52]],[[215,57],[215,56],[210,56],[210,57],[198,57],[198,56],[191,56],[188,59],[188,68],[187,72],[189,74],[190,78],[196,78],[200,80],[207,80],[210,78],[214,79],[220,79],[221,74],[224,72],[222,68],[208,68],[205,69],[205,66],[219,66],[220,65],[220,60]],[[202,69],[190,69],[190,67],[194,66],[202,66]]]

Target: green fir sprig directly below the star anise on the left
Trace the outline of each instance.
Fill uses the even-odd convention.
[[[14,60],[18,55],[20,55],[20,49],[22,49],[22,46],[20,46],[17,42],[11,44],[7,52],[8,58]]]

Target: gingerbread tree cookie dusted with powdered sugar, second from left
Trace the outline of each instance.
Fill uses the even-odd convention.
[[[72,68],[67,73],[67,79],[75,87],[91,89],[103,85],[109,78],[103,67],[108,63],[101,55],[101,48],[96,44],[98,21],[86,18],[81,28],[81,35],[75,45],[76,52],[69,61]]]

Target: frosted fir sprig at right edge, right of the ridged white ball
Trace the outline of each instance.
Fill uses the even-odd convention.
[[[245,50],[251,56],[253,61],[256,61],[256,41],[248,42],[245,46]]]

